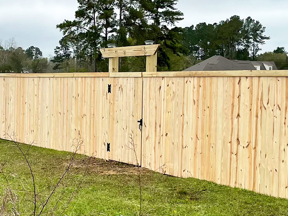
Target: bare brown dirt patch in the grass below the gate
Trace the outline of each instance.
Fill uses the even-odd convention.
[[[120,163],[117,161],[105,161],[98,158],[86,158],[84,160],[74,160],[72,169],[83,169],[88,172],[95,172],[102,175],[135,175],[138,174],[137,166]],[[151,170],[140,167],[141,174],[148,174]]]

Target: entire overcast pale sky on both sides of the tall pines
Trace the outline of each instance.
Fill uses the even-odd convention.
[[[0,40],[14,37],[23,49],[37,46],[43,56],[54,55],[62,38],[56,24],[73,20],[77,6],[77,0],[0,0]],[[181,27],[251,16],[266,26],[265,34],[271,37],[260,52],[277,46],[288,51],[288,0],[179,0],[177,7],[184,13],[177,24]]]

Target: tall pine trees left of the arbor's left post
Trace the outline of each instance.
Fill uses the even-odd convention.
[[[75,20],[65,20],[57,25],[67,41],[67,47],[73,50],[73,58],[78,67],[87,67],[96,72],[101,70],[97,67],[99,62],[100,46],[105,46],[109,42],[109,34],[116,31],[116,13],[114,12],[115,3],[113,0],[78,0],[79,7],[75,12]],[[60,47],[61,48],[61,47]],[[62,57],[65,54],[59,54],[57,48],[55,61],[62,63]],[[59,59],[59,57],[61,57]],[[65,57],[65,56],[64,56]],[[68,56],[67,56],[68,57]],[[66,57],[65,57],[66,58]],[[65,59],[64,58],[64,59]],[[87,61],[84,59],[88,59]],[[55,69],[59,69],[58,64]]]

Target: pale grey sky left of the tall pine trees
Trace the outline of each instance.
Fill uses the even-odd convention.
[[[0,39],[14,37],[23,49],[37,46],[53,55],[62,38],[56,25],[73,19],[77,6],[76,0],[0,0]]]

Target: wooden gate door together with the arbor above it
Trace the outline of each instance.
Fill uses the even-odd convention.
[[[103,58],[109,59],[110,160],[134,165],[141,165],[142,161],[142,126],[139,127],[140,120],[142,123],[142,73],[119,73],[119,58],[146,56],[146,72],[156,72],[159,47],[160,44],[100,49]]]

